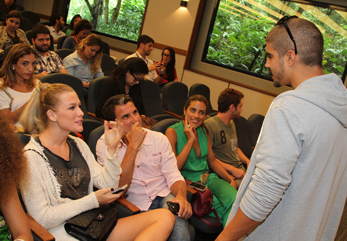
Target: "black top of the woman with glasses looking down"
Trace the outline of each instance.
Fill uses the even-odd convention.
[[[100,90],[100,94],[99,94],[99,98],[98,98],[98,104],[96,106],[96,111],[95,111],[96,116],[103,118],[102,109],[103,109],[103,106],[106,103],[106,101],[110,97],[120,95],[120,94],[126,95],[125,90],[124,90],[124,93],[119,93],[116,90],[115,80],[112,80],[111,78],[107,78],[104,81],[103,86],[101,87],[101,90]],[[132,98],[132,101],[134,102],[134,105],[137,108],[139,114],[140,115],[146,115],[145,107],[144,107],[143,102],[142,102],[140,85],[137,84],[137,85],[130,87],[130,90],[129,90],[129,93],[127,96]]]

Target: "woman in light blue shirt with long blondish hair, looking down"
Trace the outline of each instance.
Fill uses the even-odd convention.
[[[76,51],[63,60],[67,73],[79,78],[84,88],[88,88],[93,79],[104,76],[101,70],[102,48],[101,39],[91,34],[81,41]]]

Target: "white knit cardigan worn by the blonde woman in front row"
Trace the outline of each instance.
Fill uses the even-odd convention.
[[[47,157],[43,152],[44,148],[33,138],[24,147],[29,168],[20,185],[20,190],[26,209],[31,217],[56,238],[56,241],[76,240],[65,232],[66,220],[84,211],[99,207],[93,186],[99,189],[117,188],[121,173],[117,152],[113,157],[107,153],[109,161],[106,161],[105,166],[102,167],[95,160],[85,142],[79,138],[69,137],[75,141],[82,156],[87,161],[91,176],[88,186],[89,194],[77,200],[60,197],[60,185],[54,175],[55,171],[45,161]]]

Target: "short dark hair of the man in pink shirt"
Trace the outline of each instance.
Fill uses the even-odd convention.
[[[134,103],[134,101],[132,101],[132,98],[127,96],[127,95],[112,96],[104,104],[104,107],[102,110],[103,117],[107,121],[115,121],[116,120],[116,106],[124,105],[124,104],[127,104],[128,102]]]

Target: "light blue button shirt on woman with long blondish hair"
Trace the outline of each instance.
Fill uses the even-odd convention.
[[[90,71],[89,60],[88,63],[85,64],[83,60],[78,56],[77,51],[74,51],[66,58],[64,58],[63,62],[65,69],[69,75],[73,75],[85,83],[91,82],[95,78],[104,76],[101,68],[99,68],[93,75]]]

